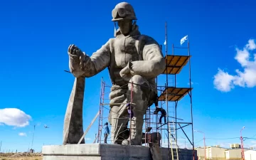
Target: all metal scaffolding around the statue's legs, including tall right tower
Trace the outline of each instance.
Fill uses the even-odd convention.
[[[159,114],[155,114],[154,105],[151,105],[147,110],[146,114],[144,115],[144,126],[143,126],[143,144],[145,146],[149,146],[149,143],[151,143],[151,135],[152,133],[158,133],[161,134],[161,142],[159,143],[160,146],[162,146],[162,141],[164,138],[163,132],[166,131],[168,134],[166,135],[168,139],[168,148],[169,148],[169,159],[178,159],[178,144],[177,144],[177,131],[180,129],[183,134],[186,136],[186,139],[188,139],[188,142],[190,142],[191,146],[193,147],[193,158],[196,159],[194,155],[194,142],[193,142],[193,105],[192,105],[192,86],[191,86],[191,54],[190,54],[190,48],[189,48],[189,42],[187,43],[187,47],[175,47],[174,44],[172,45],[172,53],[168,53],[167,48],[167,24],[166,24],[166,44],[165,44],[165,60],[166,60],[166,68],[164,70],[164,73],[161,75],[165,75],[165,85],[159,85],[159,79],[156,78],[156,84],[157,84],[157,90],[159,91],[159,107],[163,107],[167,112],[166,114],[166,123],[159,123]],[[176,49],[187,49],[188,55],[176,55],[174,51]],[[181,73],[181,70],[184,66],[188,64],[188,78],[189,78],[189,87],[177,87],[176,77],[179,73]],[[101,90],[100,90],[100,117],[98,122],[98,133],[97,133],[97,143],[102,143],[102,127],[103,127],[103,111],[109,107],[109,104],[105,102],[105,87],[110,87],[109,85],[106,85],[106,83],[102,80],[101,82]],[[124,93],[126,94],[126,93]],[[108,95],[108,94],[107,94]],[[183,119],[177,117],[177,107],[178,102],[185,97],[186,95],[189,96],[190,99],[190,121],[189,122],[183,122]],[[131,90],[131,103],[132,103],[132,90]],[[161,114],[160,114],[161,115]],[[129,117],[129,126],[131,128],[131,122],[132,118]],[[191,137],[188,137],[188,134],[184,131],[184,127],[191,127]],[[131,130],[131,129],[129,129]],[[130,131],[129,131],[130,132]],[[131,133],[130,133],[131,135]],[[157,137],[159,137],[159,134],[157,134]],[[96,142],[95,139],[95,142]],[[158,139],[158,138],[157,138]]]

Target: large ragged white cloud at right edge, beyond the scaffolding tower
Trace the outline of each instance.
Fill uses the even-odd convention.
[[[229,92],[235,86],[256,86],[256,53],[252,53],[252,51],[255,49],[256,44],[254,39],[250,39],[242,50],[235,48],[237,52],[235,55],[235,60],[240,63],[242,71],[236,69],[236,75],[230,75],[228,72],[218,68],[218,73],[214,75],[213,80],[213,85],[217,90]]]

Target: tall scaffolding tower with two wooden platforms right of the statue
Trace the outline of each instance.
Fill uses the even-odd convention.
[[[168,147],[169,147],[169,159],[178,159],[178,144],[177,144],[177,130],[181,129],[183,134],[185,134],[188,142],[190,142],[193,147],[194,153],[194,143],[193,143],[193,107],[192,107],[192,87],[191,87],[191,55],[189,42],[187,47],[175,47],[172,45],[172,54],[168,54],[167,48],[167,24],[166,24],[166,69],[164,73],[166,75],[165,86],[158,86],[161,90],[161,95],[159,96],[159,101],[161,101],[161,106],[164,105],[167,110],[167,130],[168,130]],[[187,49],[188,55],[176,55],[174,49]],[[189,87],[177,87],[176,76],[181,72],[183,67],[188,63],[188,77],[189,77]],[[182,119],[177,118],[177,107],[178,102],[189,95],[190,98],[190,110],[191,110],[191,122],[181,122]],[[177,121],[177,119],[179,121]],[[183,127],[191,126],[191,139],[188,138],[186,132],[184,132]],[[161,129],[164,126],[161,126]],[[175,153],[176,152],[176,153]],[[171,158],[170,158],[171,156]],[[193,156],[194,157],[194,156]],[[195,159],[195,157],[194,157]]]

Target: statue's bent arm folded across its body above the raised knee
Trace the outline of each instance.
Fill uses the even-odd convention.
[[[166,63],[159,44],[151,37],[145,36],[142,38],[140,45],[140,53],[143,60],[133,61],[131,69],[137,75],[145,76],[146,78],[156,78],[164,72]]]

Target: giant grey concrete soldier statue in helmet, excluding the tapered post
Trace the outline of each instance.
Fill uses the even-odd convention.
[[[112,10],[112,21],[119,26],[114,38],[110,38],[91,56],[82,52],[78,46],[68,47],[70,72],[75,78],[90,78],[105,68],[110,71],[112,87],[109,122],[112,125],[113,144],[141,145],[143,117],[157,95],[155,78],[164,72],[166,66],[159,44],[139,32],[136,20],[132,5],[119,3]],[[124,139],[120,133],[127,130],[129,122],[126,105],[131,102],[131,88],[134,116],[131,134]]]

